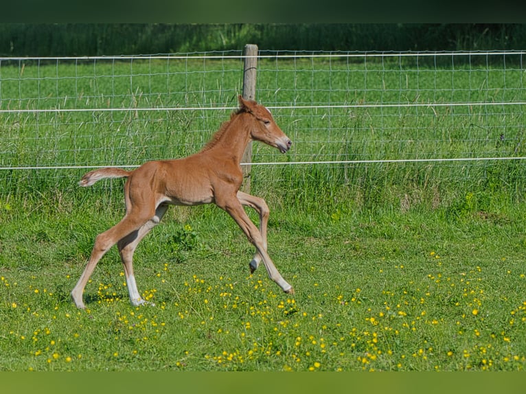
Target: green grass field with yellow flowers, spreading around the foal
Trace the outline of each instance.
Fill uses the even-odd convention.
[[[118,66],[96,74],[121,75],[130,68]],[[361,85],[361,65],[349,70],[343,64],[341,74],[304,76],[295,74],[301,67],[290,62],[290,75],[306,78],[300,84],[299,77],[288,80],[289,73],[278,74],[272,66],[263,65],[258,79],[260,100],[268,105],[310,97],[312,102],[352,102],[347,86],[354,85],[352,95],[365,102],[390,102],[396,89],[398,95],[402,89],[406,95],[430,95],[418,100],[442,102],[452,93],[444,85],[435,89],[436,77],[446,76],[447,83],[453,75],[460,78],[453,73],[433,78],[422,65],[420,74],[407,73],[406,79],[404,73],[380,72],[385,69],[380,65],[377,75],[387,86],[382,89],[381,84],[374,88],[375,72],[368,74],[367,86]],[[57,73],[49,67],[38,71],[40,76]],[[336,71],[336,65],[331,69]],[[78,76],[79,71],[66,67],[60,75]],[[181,75],[187,71],[181,69]],[[224,65],[218,73],[194,71],[190,75],[201,82],[186,84],[194,86],[189,102],[201,97],[198,102],[204,104],[228,104],[235,96],[239,75],[227,78],[229,91],[196,87],[230,75]],[[69,87],[49,88],[53,94],[47,99],[21,106],[55,106],[65,97],[76,100],[75,106],[86,97],[106,105],[100,97],[119,80],[93,77],[83,89],[73,79],[41,80],[38,87],[31,85],[33,79],[9,82],[10,72],[20,75],[20,69],[1,68],[2,106],[10,94],[15,100],[18,86],[26,82],[28,97],[44,91],[44,82]],[[26,75],[30,72],[27,67]],[[484,75],[501,73],[496,67]],[[469,83],[459,80],[468,86],[488,84],[484,91],[475,89],[485,98],[521,100],[508,97],[523,94],[517,88],[521,74],[512,69],[504,79],[479,82],[473,72],[466,77]],[[175,89],[156,95],[155,86],[163,84],[149,78],[151,94],[135,90],[108,100],[126,104],[140,96],[139,107],[152,97],[167,106],[186,100],[168,103]],[[408,92],[404,86],[411,81],[418,81],[418,89]],[[9,93],[10,83],[14,93]],[[273,84],[284,86],[282,93]],[[308,91],[314,84],[316,89]],[[182,84],[179,90],[184,89]],[[458,92],[474,95],[469,90]],[[275,111],[295,145],[284,157],[255,145],[255,161],[520,157],[523,151],[523,113],[500,106],[489,112],[458,109],[455,116],[451,108],[438,107],[345,111]],[[228,117],[228,111],[206,114],[63,113],[40,114],[35,121],[31,114],[3,113],[0,124],[8,138],[0,142],[0,163],[135,165],[177,157],[198,149]],[[268,251],[293,284],[294,296],[283,294],[264,269],[249,275],[253,248],[225,212],[212,206],[174,207],[135,255],[139,290],[155,306],[130,305],[112,249],[87,286],[87,310],[80,311],[69,292],[95,235],[124,214],[122,182],[78,189],[83,172],[0,172],[3,371],[516,371],[526,366],[521,160],[253,166],[252,192],[271,208]]]

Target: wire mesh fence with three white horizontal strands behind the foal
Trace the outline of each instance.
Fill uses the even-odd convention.
[[[257,98],[295,142],[290,161],[256,146],[251,164],[522,161],[525,54],[260,51]],[[251,57],[0,58],[0,170],[191,153],[237,108]]]

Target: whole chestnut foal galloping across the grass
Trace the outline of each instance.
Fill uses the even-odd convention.
[[[255,246],[256,253],[250,262],[251,271],[263,262],[268,276],[284,292],[294,292],[266,252],[269,214],[266,202],[239,191],[242,183],[240,160],[249,141],[263,141],[286,152],[290,148],[290,140],[275,124],[266,108],[253,101],[242,100],[241,97],[240,106],[240,111],[216,133],[211,143],[190,157],[150,161],[131,172],[103,168],[84,175],[81,185],[91,185],[106,177],[127,177],[128,180],[124,185],[126,215],[114,227],[95,238],[87,266],[71,291],[78,308],[84,308],[82,293],[95,266],[115,244],[124,265],[131,303],[141,305],[146,302],[137,290],[133,253],[144,236],[159,224],[169,205],[214,202],[227,211]],[[247,216],[243,205],[258,212],[260,229]]]

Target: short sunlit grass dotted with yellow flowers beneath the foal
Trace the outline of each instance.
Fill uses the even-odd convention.
[[[514,371],[526,365],[523,235],[510,233],[511,226],[504,242],[493,224],[477,219],[443,222],[426,239],[414,237],[414,228],[375,235],[387,227],[343,213],[309,233],[271,223],[269,252],[297,290],[291,297],[263,268],[249,275],[251,246],[227,216],[218,211],[210,220],[210,214],[186,225],[169,220],[139,247],[139,290],[155,306],[130,305],[117,254],[108,253],[84,294],[87,310],[77,310],[69,290],[90,247],[78,241],[38,246],[38,255],[80,248],[67,264],[4,266],[1,369]],[[404,220],[424,224],[414,213]],[[59,231],[67,231],[63,226]],[[222,232],[214,233],[218,227]],[[458,239],[455,227],[471,236]],[[194,234],[191,250],[158,243],[176,229]],[[20,256],[24,247],[2,240],[8,255]]]

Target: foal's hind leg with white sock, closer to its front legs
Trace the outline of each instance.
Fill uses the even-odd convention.
[[[135,248],[141,240],[153,229],[163,218],[168,205],[159,205],[155,211],[155,216],[148,220],[140,229],[134,231],[130,235],[124,237],[117,243],[119,253],[121,255],[122,264],[124,265],[124,274],[126,275],[126,286],[130,294],[130,302],[132,305],[138,306],[146,303],[141,297],[139,290],[137,290],[137,282],[133,273],[133,253]]]

